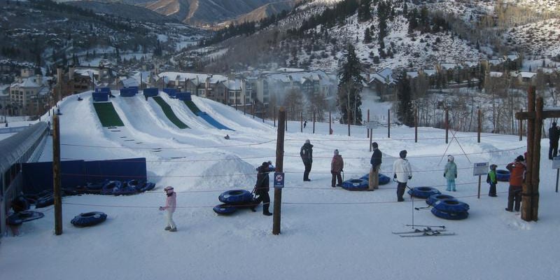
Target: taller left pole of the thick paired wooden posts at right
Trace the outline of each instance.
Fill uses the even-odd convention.
[[[527,112],[535,113],[535,91],[529,90],[527,92]],[[523,193],[521,194],[521,218],[524,221],[531,221],[532,217],[532,205],[531,205],[531,194],[533,193],[533,146],[535,146],[535,130],[540,130],[540,127],[535,127],[535,119],[527,120],[527,170],[525,173],[525,183],[523,184]],[[540,139],[538,139],[540,143]]]

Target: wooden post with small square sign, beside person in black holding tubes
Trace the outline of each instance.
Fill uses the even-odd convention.
[[[283,156],[284,156],[284,130],[281,127],[286,119],[286,111],[280,107],[278,112],[278,136],[276,137],[276,172],[283,172]],[[274,188],[274,216],[272,216],[272,234],[280,234],[280,220],[281,220],[281,206],[282,206],[282,189]]]

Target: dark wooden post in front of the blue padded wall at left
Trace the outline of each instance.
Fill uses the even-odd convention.
[[[57,115],[52,116],[52,186],[55,197],[55,235],[62,235],[62,190],[60,187],[60,128]]]

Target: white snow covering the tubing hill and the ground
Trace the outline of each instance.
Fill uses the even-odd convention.
[[[463,221],[436,218],[429,211],[414,211],[425,202],[395,202],[395,183],[374,192],[349,192],[330,187],[330,159],[337,148],[344,158],[345,179],[366,174],[370,167],[365,127],[288,122],[283,170],[281,234],[272,235],[272,217],[240,210],[218,216],[212,207],[225,190],[252,190],[255,167],[275,160],[276,127],[272,120],[244,116],[228,106],[193,97],[202,111],[235,131],[216,130],[194,116],[176,99],[169,99],[176,115],[189,125],[180,130],[165,118],[158,104],[143,97],[111,99],[125,127],[113,132],[99,124],[90,92],[83,101],[64,99],[59,108],[61,153],[69,159],[146,157],[149,180],[155,190],[131,196],[81,195],[64,197],[64,232],[53,234],[52,207],[38,209],[45,218],[24,223],[20,235],[1,239],[2,279],[556,279],[560,268],[560,206],[554,192],[556,170],[547,160],[548,140],[542,139],[539,221],[521,220],[504,211],[507,183],[498,183],[498,197],[488,197],[482,179],[472,176],[475,162],[503,169],[526,151],[526,141],[504,134],[477,135],[413,127],[373,130],[383,153],[381,173],[391,176],[392,163],[408,151],[413,178],[409,185],[431,186],[470,204]],[[388,104],[364,97],[372,119],[386,116]],[[393,118],[391,118],[393,119]],[[277,122],[276,122],[277,123]],[[223,139],[228,133],[230,140]],[[456,139],[452,138],[453,135]],[[123,141],[123,138],[134,141]],[[302,182],[299,158],[305,139],[314,145],[311,182]],[[141,144],[137,144],[141,142]],[[42,161],[52,160],[52,144],[45,145]],[[154,153],[153,148],[162,148]],[[444,191],[444,158],[454,155],[458,165],[457,192]],[[167,232],[165,186],[174,186],[178,232]],[[274,191],[270,191],[274,202]],[[107,221],[90,228],[75,228],[73,216],[103,211]],[[405,224],[445,225],[454,236],[404,239],[391,231],[410,230]],[[421,228],[421,227],[419,227]],[[523,263],[523,265],[520,265]],[[535,273],[538,272],[538,273]]]

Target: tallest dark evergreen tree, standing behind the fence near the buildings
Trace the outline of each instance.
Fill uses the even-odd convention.
[[[360,75],[363,68],[352,44],[347,45],[342,59],[344,64],[338,73],[338,107],[342,113],[340,122],[347,123],[349,120],[353,125],[360,125],[362,123],[360,92],[365,78]]]

